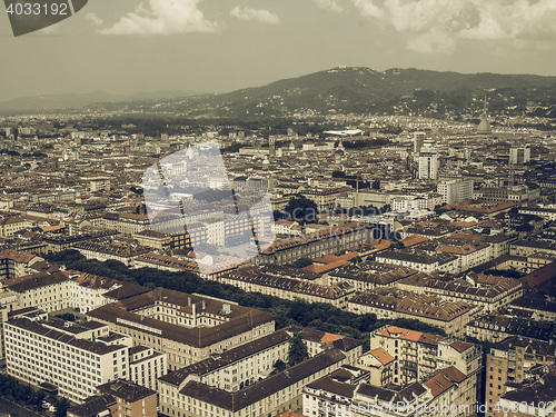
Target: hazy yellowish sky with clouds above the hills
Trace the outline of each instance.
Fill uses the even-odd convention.
[[[90,0],[18,38],[2,9],[0,101],[224,92],[341,63],[555,76],[555,0]]]

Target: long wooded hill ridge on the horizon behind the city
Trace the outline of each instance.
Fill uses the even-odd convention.
[[[535,75],[338,67],[224,93],[173,92],[173,97],[155,99],[136,95],[135,99],[118,97],[119,100],[112,98],[112,101],[98,100],[75,107],[89,111],[173,113],[195,118],[334,113],[453,117],[476,116],[483,109],[486,95],[489,109],[500,115],[556,116],[556,77]],[[79,100],[79,97],[73,98]]]

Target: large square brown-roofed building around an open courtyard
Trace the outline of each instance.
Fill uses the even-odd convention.
[[[247,344],[275,330],[274,317],[231,301],[157,288],[87,314],[135,344],[168,355],[170,369]]]

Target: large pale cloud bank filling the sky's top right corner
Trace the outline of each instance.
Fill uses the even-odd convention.
[[[509,41],[522,48],[554,44],[556,40],[554,0],[351,0],[351,3],[363,16],[408,34],[408,49],[419,52],[450,53],[463,40]]]

